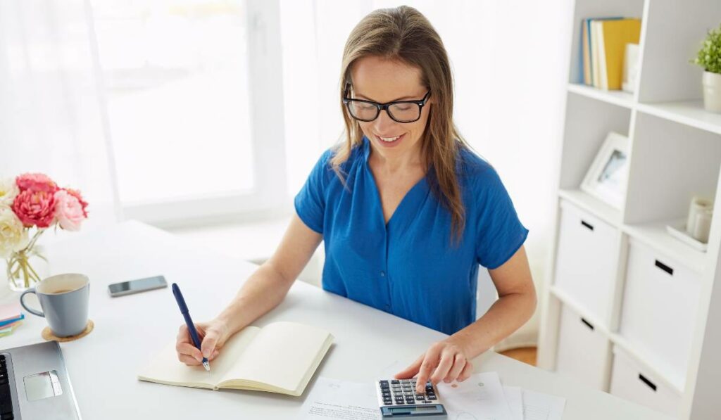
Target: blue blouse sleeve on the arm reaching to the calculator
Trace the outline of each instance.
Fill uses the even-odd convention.
[[[516,207],[495,169],[489,166],[477,177],[476,258],[483,267],[496,269],[521,248],[528,229],[518,219]]]

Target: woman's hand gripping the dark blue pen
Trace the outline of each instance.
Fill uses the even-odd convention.
[[[193,344],[193,339],[190,338],[190,332],[188,332],[185,323],[180,326],[175,343],[178,360],[188,366],[201,365],[203,356],[208,361],[218,357],[218,353],[229,336],[226,323],[217,319],[210,322],[195,323],[195,329],[198,331],[198,339],[200,339],[201,343],[200,350]]]

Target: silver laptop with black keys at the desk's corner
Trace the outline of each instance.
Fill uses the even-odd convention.
[[[56,341],[0,350],[0,420],[6,419],[80,419]]]

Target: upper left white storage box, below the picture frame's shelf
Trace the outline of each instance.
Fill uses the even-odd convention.
[[[608,223],[563,200],[555,285],[605,320],[618,263],[619,233]]]

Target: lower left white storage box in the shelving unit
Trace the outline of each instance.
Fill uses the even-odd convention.
[[[593,323],[566,305],[561,310],[556,371],[580,383],[603,390],[603,361],[609,351],[609,340]]]

